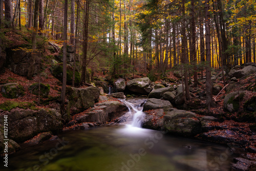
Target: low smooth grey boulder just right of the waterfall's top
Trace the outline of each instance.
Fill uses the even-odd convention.
[[[160,100],[156,98],[150,98],[143,106],[143,111],[153,110],[153,109],[163,109],[168,111],[173,108],[172,103],[167,100]]]

